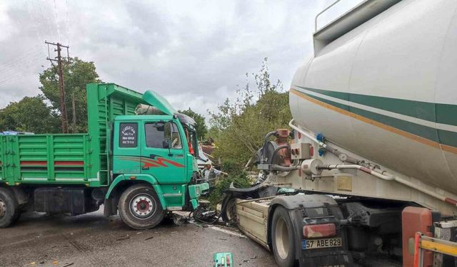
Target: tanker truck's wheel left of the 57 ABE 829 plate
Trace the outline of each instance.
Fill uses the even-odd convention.
[[[280,267],[295,266],[295,247],[293,241],[293,226],[288,212],[278,206],[273,214],[271,224],[271,241],[276,263]]]

